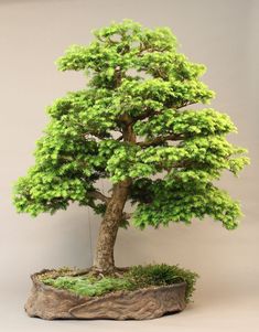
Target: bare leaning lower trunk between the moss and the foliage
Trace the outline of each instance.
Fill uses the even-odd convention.
[[[121,181],[112,188],[97,239],[94,269],[110,272],[115,269],[114,247],[129,193],[130,181]]]

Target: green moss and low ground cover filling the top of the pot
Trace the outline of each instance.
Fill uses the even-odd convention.
[[[133,266],[121,277],[62,276],[53,278],[45,275],[41,281],[45,285],[66,289],[78,296],[98,297],[118,290],[137,290],[152,286],[166,286],[185,281],[185,299],[188,302],[195,290],[197,274],[179,266],[147,265]]]

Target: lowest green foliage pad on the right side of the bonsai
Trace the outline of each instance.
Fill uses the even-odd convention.
[[[147,183],[144,190],[139,191],[139,196],[134,197],[142,200],[133,215],[134,225],[142,229],[147,225],[158,228],[160,225],[168,226],[170,222],[190,224],[194,217],[202,219],[211,215],[220,221],[225,228],[236,228],[241,215],[238,202],[225,191],[206,183],[206,174],[203,179],[203,174],[199,174],[201,179],[198,173],[193,172],[181,174],[180,181],[168,183],[157,180]]]

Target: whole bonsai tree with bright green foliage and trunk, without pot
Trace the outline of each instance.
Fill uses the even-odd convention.
[[[236,175],[248,158],[226,140],[237,130],[226,114],[190,107],[214,97],[199,81],[205,66],[177,52],[168,28],[125,20],[94,35],[57,60],[60,71],[83,71],[87,87],[47,107],[35,164],[15,185],[18,212],[91,207],[102,217],[93,269],[105,274],[116,269],[117,233],[129,223],[158,228],[208,215],[236,228],[239,203],[215,181],[225,170]],[[111,183],[108,195],[101,179]]]

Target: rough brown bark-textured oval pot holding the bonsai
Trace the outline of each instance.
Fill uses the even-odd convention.
[[[150,287],[136,291],[117,291],[101,297],[78,297],[55,289],[32,276],[33,288],[25,304],[30,317],[54,319],[115,319],[145,320],[185,308],[186,283]]]

